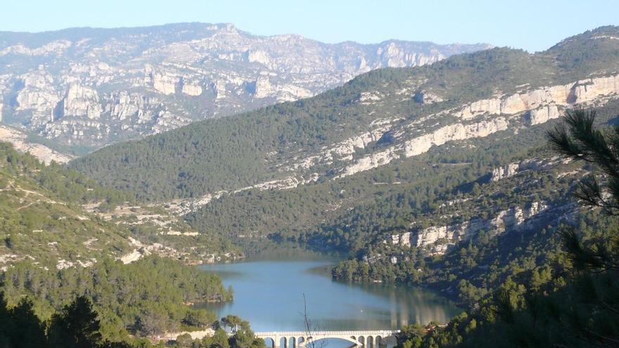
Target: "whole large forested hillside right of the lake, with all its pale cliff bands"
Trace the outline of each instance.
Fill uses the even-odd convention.
[[[70,167],[237,243],[347,252],[335,278],[429,285],[473,305],[510,277],[543,272],[556,227],[586,219],[568,198],[588,169],[548,153],[544,132],[577,106],[615,122],[613,37],[619,28],[602,27],[535,54],[376,70]]]

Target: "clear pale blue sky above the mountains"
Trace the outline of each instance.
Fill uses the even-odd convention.
[[[231,22],[253,34],[325,42],[386,39],[487,42],[528,51],[601,25],[619,0],[1,0],[0,30]]]

